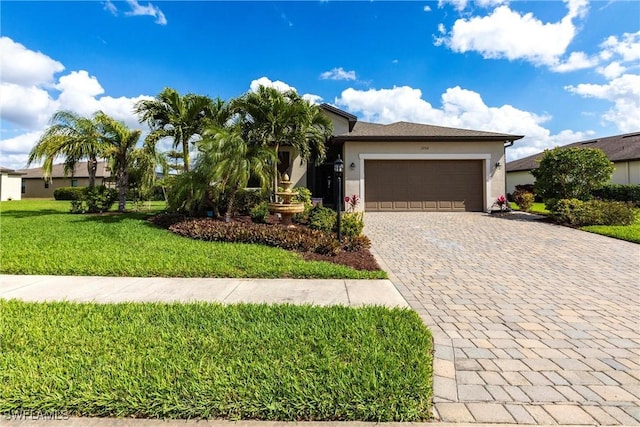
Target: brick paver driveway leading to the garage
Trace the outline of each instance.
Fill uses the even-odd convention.
[[[443,421],[640,424],[640,246],[524,214],[367,213]]]

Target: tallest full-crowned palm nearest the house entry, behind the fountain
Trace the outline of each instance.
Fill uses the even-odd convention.
[[[283,93],[260,86],[257,91],[232,101],[232,105],[239,115],[245,140],[250,145],[269,147],[275,154],[274,193],[278,188],[279,147],[294,147],[301,161],[317,164],[324,160],[332,122],[320,107],[302,99],[295,91]]]

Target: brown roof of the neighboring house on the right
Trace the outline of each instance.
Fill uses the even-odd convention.
[[[640,132],[574,142],[562,147],[599,148],[614,163],[640,160]],[[506,171],[517,172],[536,169],[538,167],[536,160],[541,159],[543,155],[544,152],[508,162]]]

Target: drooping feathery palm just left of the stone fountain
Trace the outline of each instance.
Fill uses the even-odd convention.
[[[209,126],[198,142],[197,170],[210,172],[208,182],[216,182],[222,192],[229,195],[225,217],[233,214],[238,191],[255,177],[262,188],[269,187],[272,178],[271,165],[277,157],[268,147],[247,144],[240,125]]]

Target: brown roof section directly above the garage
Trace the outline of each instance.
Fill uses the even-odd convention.
[[[396,122],[388,125],[357,122],[353,131],[336,135],[338,141],[515,141],[522,135],[456,129],[420,123]]]

